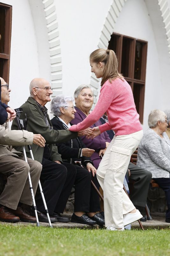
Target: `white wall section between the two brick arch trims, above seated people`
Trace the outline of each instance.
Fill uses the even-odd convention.
[[[89,84],[89,54],[97,49],[112,0],[55,0],[59,23],[63,93],[73,95],[80,84]]]

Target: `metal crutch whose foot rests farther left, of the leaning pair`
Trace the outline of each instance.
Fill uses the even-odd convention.
[[[22,130],[21,124],[19,122],[19,116],[20,116],[21,111],[19,112],[18,110],[19,110],[19,108],[15,109],[15,112],[17,114],[16,115],[16,121],[17,121],[18,129]],[[27,157],[26,157],[25,146],[22,146],[22,148],[23,148],[25,162],[28,164]],[[32,188],[30,172],[28,172],[28,179],[29,179],[29,184],[30,184],[30,191],[31,191],[31,196],[32,196],[33,207],[34,207],[34,210],[35,210],[35,217],[36,217],[36,221],[37,221],[37,227],[39,227],[40,225],[39,225],[39,219],[38,219],[38,214],[37,214],[37,208],[36,208],[36,204],[35,204],[35,198],[34,198],[34,192],[33,192],[33,188]]]

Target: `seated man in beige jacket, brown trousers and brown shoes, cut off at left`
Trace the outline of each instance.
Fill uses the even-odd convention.
[[[8,84],[0,77],[2,82],[2,102],[10,100],[10,89]],[[8,122],[0,125],[0,173],[7,176],[7,183],[0,195],[0,220],[5,222],[36,222],[36,218],[25,212],[25,206],[32,205],[32,197],[29,189],[28,172],[32,178],[34,193],[37,190],[42,165],[27,159],[24,161],[23,154],[17,152],[8,145],[37,145],[45,146],[44,138],[40,134],[27,131],[11,131]],[[23,205],[24,204],[24,205]]]

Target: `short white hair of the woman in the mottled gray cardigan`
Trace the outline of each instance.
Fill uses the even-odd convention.
[[[162,110],[154,109],[150,112],[148,116],[149,128],[154,128],[156,127],[158,121],[165,122],[165,120],[166,120],[166,114]]]

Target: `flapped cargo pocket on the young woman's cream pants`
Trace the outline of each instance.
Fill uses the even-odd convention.
[[[113,145],[110,148],[110,158],[107,170],[124,173],[127,161],[130,161],[131,149]],[[128,163],[129,164],[129,163]]]

